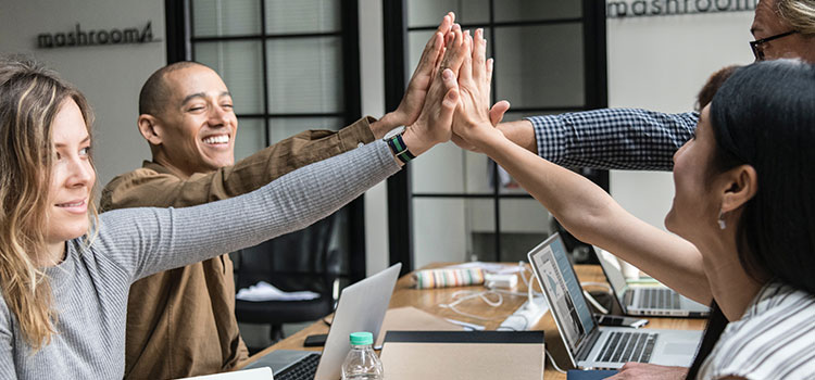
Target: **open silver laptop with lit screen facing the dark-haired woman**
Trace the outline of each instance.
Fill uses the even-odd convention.
[[[560,235],[528,256],[574,367],[617,369],[627,362],[689,367],[693,362],[702,331],[598,326]]]

